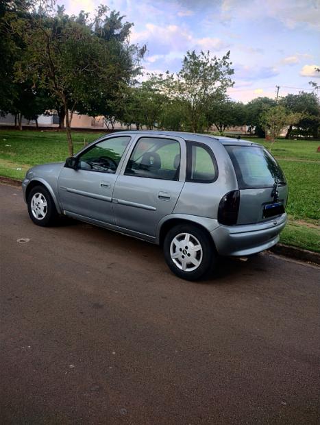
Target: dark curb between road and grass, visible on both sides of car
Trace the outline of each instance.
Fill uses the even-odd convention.
[[[0,175],[0,183],[10,184],[11,186],[21,187],[21,180],[2,177]],[[293,247],[290,245],[284,245],[283,243],[277,243],[269,251],[275,254],[280,254],[286,257],[295,258],[295,260],[306,261],[307,263],[315,263],[320,265],[320,254],[302,248]]]

